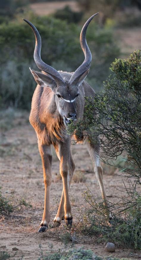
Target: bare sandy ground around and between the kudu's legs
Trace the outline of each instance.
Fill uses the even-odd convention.
[[[9,131],[1,132],[1,161],[0,161],[0,185],[4,197],[12,196],[12,200],[24,198],[32,205],[32,208],[22,206],[9,217],[1,217],[0,220],[0,250],[15,252],[12,248],[17,248],[16,256],[13,259],[38,259],[40,256],[39,244],[42,245],[43,252],[49,250],[50,243],[54,250],[61,248],[61,241],[58,239],[59,232],[63,229],[63,224],[57,229],[49,229],[46,233],[38,234],[43,214],[44,204],[44,184],[40,155],[37,147],[37,138],[34,129],[29,125],[28,120],[21,118],[21,122]],[[73,158],[76,163],[76,173],[82,174],[82,182],[72,181],[70,188],[70,201],[72,205],[73,222],[76,223],[79,216],[79,209],[87,209],[88,204],[81,194],[88,186],[94,193],[97,201],[101,201],[101,194],[98,182],[93,173],[93,166],[88,155],[86,145],[72,145]],[[107,169],[107,168],[106,168]],[[85,178],[84,178],[84,176]],[[57,213],[59,201],[62,193],[62,180],[59,177],[59,161],[53,150],[52,165],[52,187],[51,187],[51,222]],[[115,201],[113,195],[121,195],[117,186],[123,186],[119,173],[110,173],[105,170],[104,184],[109,201]],[[113,195],[111,195],[113,194]],[[109,256],[106,253],[104,244],[97,244],[96,239],[84,238],[79,240],[76,247],[84,246],[93,250],[100,256]],[[116,248],[112,256],[129,257],[139,259],[139,251]]]

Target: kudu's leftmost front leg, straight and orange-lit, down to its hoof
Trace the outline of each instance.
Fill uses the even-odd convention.
[[[40,145],[40,141],[38,142],[38,147],[39,147],[40,155],[42,158],[43,178],[44,178],[44,185],[45,185],[45,201],[44,201],[43,219],[40,223],[40,228],[39,228],[38,232],[44,232],[48,229],[48,223],[50,221],[49,206],[50,206],[52,154],[51,154],[51,147],[48,145]]]

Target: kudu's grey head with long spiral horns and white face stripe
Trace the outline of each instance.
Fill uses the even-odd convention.
[[[79,86],[87,77],[92,60],[92,55],[86,41],[86,31],[90,21],[97,14],[98,13],[92,15],[82,28],[80,34],[80,44],[85,59],[82,65],[80,65],[79,68],[77,68],[77,70],[73,73],[69,81],[65,80],[65,78],[63,79],[58,71],[56,71],[51,66],[47,65],[45,62],[43,62],[43,60],[40,57],[40,34],[31,22],[23,19],[29,24],[29,26],[32,28],[34,32],[36,40],[34,60],[37,67],[42,70],[42,72],[33,71],[31,69],[30,71],[38,85],[40,85],[41,87],[50,87],[51,90],[54,92],[57,110],[63,118],[65,126],[68,126],[68,124],[71,123],[72,120],[76,121],[77,118],[76,100],[79,96]]]

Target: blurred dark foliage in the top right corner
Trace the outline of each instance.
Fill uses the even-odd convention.
[[[134,27],[140,26],[141,1],[138,0],[77,0],[80,8],[89,15],[93,10],[99,12],[96,18],[101,25]],[[134,8],[135,7],[135,8]],[[133,9],[134,8],[134,9]],[[137,10],[138,9],[138,10]],[[112,19],[111,19],[112,18]]]

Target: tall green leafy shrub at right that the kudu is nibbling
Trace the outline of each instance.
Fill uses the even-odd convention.
[[[86,99],[84,120],[70,131],[77,130],[80,136],[82,127],[90,133],[90,142],[98,141],[102,158],[108,163],[118,155],[127,155],[126,175],[141,176],[141,55],[135,51],[129,59],[118,59],[112,63],[113,74],[104,83],[105,92]],[[125,157],[125,156],[124,156]],[[128,169],[132,164],[132,170]],[[134,170],[133,170],[134,169]]]

